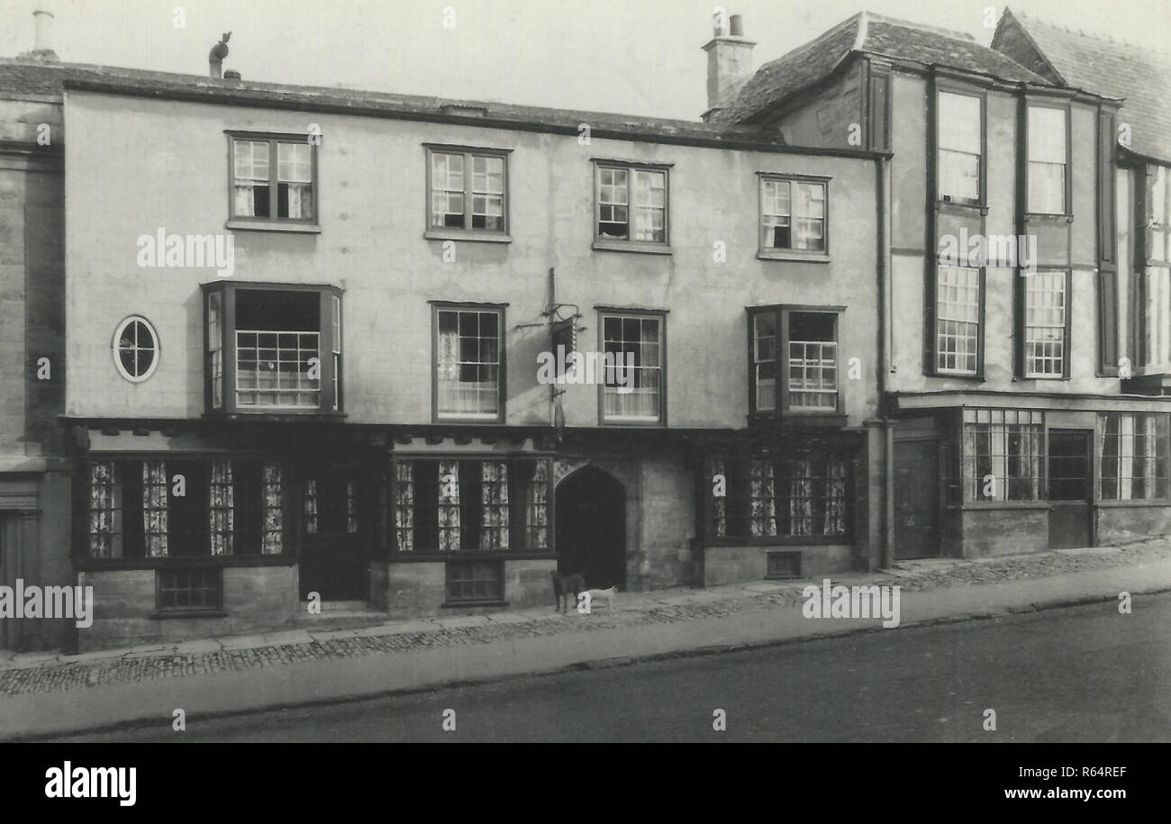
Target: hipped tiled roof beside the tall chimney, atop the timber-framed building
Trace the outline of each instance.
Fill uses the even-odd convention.
[[[768,107],[824,78],[851,54],[863,53],[1050,85],[1012,57],[980,46],[968,34],[861,12],[760,67],[733,103],[712,119],[751,123]]]

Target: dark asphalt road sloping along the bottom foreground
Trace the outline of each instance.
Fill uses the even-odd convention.
[[[1167,742],[1169,629],[1171,593],[61,740]]]

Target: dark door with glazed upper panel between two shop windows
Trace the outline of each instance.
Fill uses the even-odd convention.
[[[1049,430],[1049,549],[1075,549],[1094,543],[1090,523],[1094,433]]]

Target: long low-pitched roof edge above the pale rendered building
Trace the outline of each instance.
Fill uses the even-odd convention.
[[[759,144],[781,149],[783,138],[752,126],[708,124],[612,112],[575,111],[495,102],[444,99],[417,95],[363,91],[340,87],[213,80],[201,75],[146,71],[81,63],[0,59],[0,95],[61,97],[66,84],[109,88],[118,94],[174,96],[242,105],[330,107],[355,114],[440,118],[448,122],[492,122],[519,128],[545,128],[577,132],[586,123],[597,133],[630,136],[643,140],[699,140],[704,143]],[[801,150],[806,151],[806,150]],[[856,153],[856,152],[834,152]]]

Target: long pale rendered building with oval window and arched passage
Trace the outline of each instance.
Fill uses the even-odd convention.
[[[81,648],[881,559],[883,150],[218,62],[0,83],[63,124],[39,550]],[[622,368],[550,384],[559,346]]]

